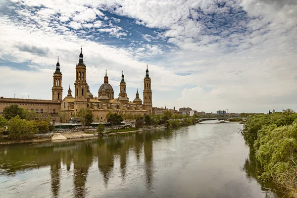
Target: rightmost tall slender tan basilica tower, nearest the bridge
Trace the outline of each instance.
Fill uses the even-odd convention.
[[[152,113],[152,98],[151,98],[151,88],[150,88],[150,78],[148,75],[148,65],[146,71],[146,77],[144,79],[144,105],[143,108],[148,111],[148,115]]]

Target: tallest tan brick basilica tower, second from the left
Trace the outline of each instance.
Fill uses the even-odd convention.
[[[79,54],[79,62],[76,65],[76,80],[74,83],[74,110],[77,113],[81,108],[87,107],[87,80],[86,80],[86,65],[83,60],[83,53]]]

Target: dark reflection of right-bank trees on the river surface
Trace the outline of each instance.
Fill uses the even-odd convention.
[[[261,185],[262,191],[265,191],[265,197],[269,197],[269,189],[277,189],[271,181],[263,181],[259,178],[262,174],[262,170],[260,162],[256,159],[254,150],[249,149],[248,158],[246,159],[243,170],[246,172],[248,179],[254,179]],[[284,196],[279,191],[276,191],[276,194],[280,198]]]

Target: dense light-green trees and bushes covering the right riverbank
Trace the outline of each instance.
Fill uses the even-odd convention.
[[[289,197],[297,197],[297,114],[291,109],[247,117],[241,131],[263,173]]]

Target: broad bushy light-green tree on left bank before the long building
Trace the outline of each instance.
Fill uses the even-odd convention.
[[[20,140],[21,138],[32,138],[35,133],[38,133],[38,124],[33,121],[21,119],[19,115],[10,119],[7,123],[7,131],[9,137]]]

